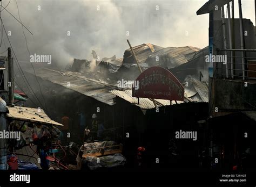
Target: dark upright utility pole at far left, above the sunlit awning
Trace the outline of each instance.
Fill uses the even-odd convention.
[[[11,48],[8,47],[8,77],[9,77],[9,106],[14,105],[14,62],[11,58]]]

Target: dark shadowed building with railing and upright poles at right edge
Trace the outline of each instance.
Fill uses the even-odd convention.
[[[231,0],[209,1],[197,15],[209,13],[207,125],[211,166],[245,171],[255,167],[256,35],[252,21],[242,18],[241,1],[239,19],[230,16],[231,3],[234,7]]]

